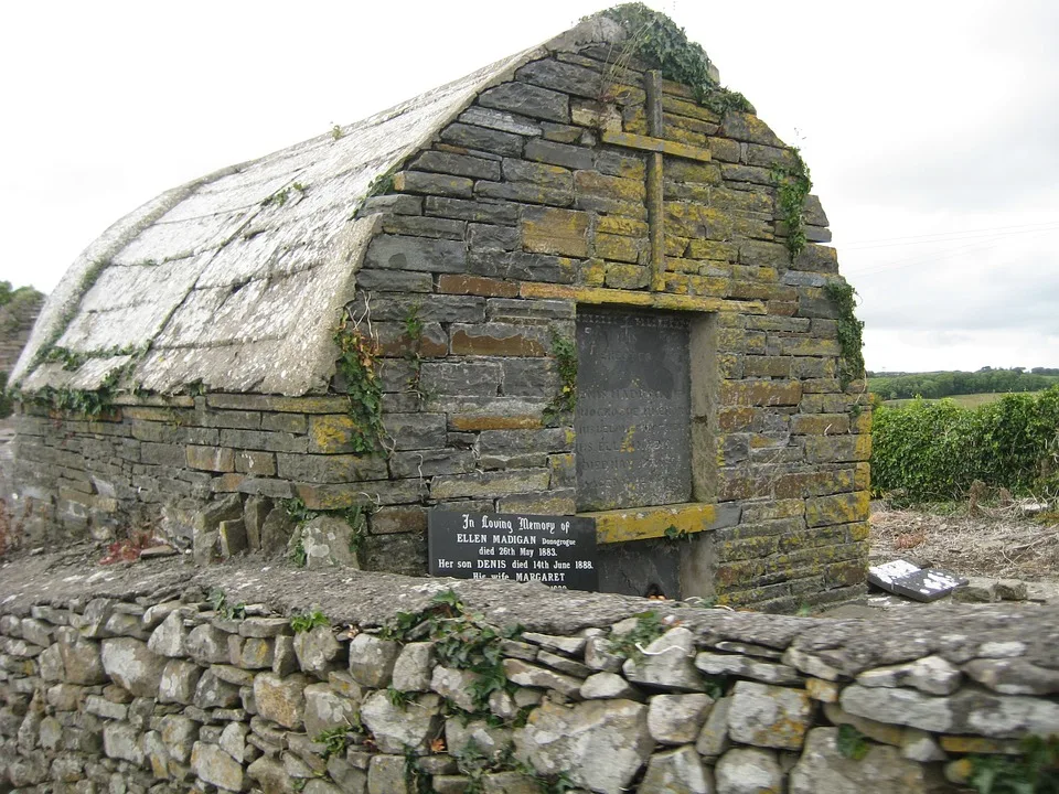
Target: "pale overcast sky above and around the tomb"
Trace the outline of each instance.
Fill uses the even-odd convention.
[[[1059,366],[1059,3],[650,2],[802,147],[871,369]],[[162,191],[349,124],[606,8],[6,3],[0,280],[50,291]]]

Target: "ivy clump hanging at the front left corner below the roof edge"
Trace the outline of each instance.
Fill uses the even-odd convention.
[[[371,333],[371,326],[364,333],[349,310],[343,312],[332,339],[339,348],[336,366],[345,380],[350,417],[354,423],[350,443],[354,452],[375,452],[385,433],[383,387],[376,372],[378,342]]]

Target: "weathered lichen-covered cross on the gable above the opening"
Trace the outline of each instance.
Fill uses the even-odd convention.
[[[662,73],[646,74],[648,131],[650,136],[603,130],[603,143],[645,151],[648,158],[648,223],[651,228],[651,289],[665,289],[665,179],[662,173],[664,154],[709,162],[709,150],[665,139],[665,119],[662,115]]]

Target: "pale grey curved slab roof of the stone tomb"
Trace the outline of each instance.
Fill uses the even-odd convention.
[[[28,391],[94,389],[126,373],[172,393],[327,389],[332,329],[353,298],[375,218],[374,180],[414,154],[483,89],[549,52],[613,42],[606,18],[349,127],[171,190],[89,245],[49,297],[14,371]],[[43,362],[52,347],[85,358]]]

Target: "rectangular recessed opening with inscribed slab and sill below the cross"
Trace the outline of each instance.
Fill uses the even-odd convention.
[[[600,588],[712,593],[697,534],[717,497],[715,315],[579,307],[577,355],[577,507],[603,527]]]

